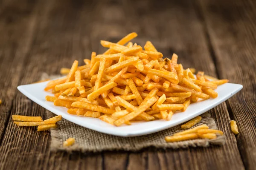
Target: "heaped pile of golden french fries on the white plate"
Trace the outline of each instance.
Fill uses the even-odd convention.
[[[147,41],[144,49],[132,43],[131,33],[119,42],[101,41],[109,48],[105,53],[84,59],[85,65],[74,61],[67,76],[48,82],[45,91],[54,96],[46,100],[68,108],[68,113],[95,117],[112,125],[131,125],[131,121],[170,120],[176,111],[186,111],[199,98],[216,98],[214,91],[227,79],[209,81],[211,77],[183,69],[178,56],[163,58]],[[126,45],[125,45],[126,44]]]

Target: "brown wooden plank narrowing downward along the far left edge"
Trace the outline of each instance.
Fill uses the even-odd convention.
[[[0,10],[0,143],[35,33],[34,4],[2,2]]]

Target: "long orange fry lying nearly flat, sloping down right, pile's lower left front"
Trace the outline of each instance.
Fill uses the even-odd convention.
[[[72,106],[76,107],[76,108],[84,108],[84,109],[87,109],[90,111],[96,111],[96,112],[101,112],[101,113],[105,113],[105,114],[112,114],[115,112],[115,110],[113,110],[113,109],[93,105],[93,104],[86,103],[86,102],[73,102]]]

